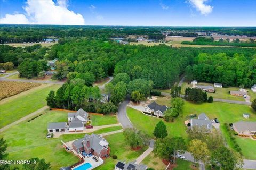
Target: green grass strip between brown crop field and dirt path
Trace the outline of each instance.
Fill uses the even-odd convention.
[[[57,90],[60,85],[53,85],[42,89],[37,89],[27,95],[10,99],[0,105],[0,128],[10,124],[20,118],[37,111],[46,106],[45,98],[51,90]]]

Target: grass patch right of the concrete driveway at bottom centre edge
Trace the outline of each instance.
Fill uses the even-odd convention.
[[[147,165],[149,168],[154,169],[165,169],[167,166],[164,165],[162,159],[154,156],[154,153],[151,152],[145,159],[143,159],[142,164]]]

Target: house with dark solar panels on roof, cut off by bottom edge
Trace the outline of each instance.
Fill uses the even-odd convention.
[[[119,161],[115,165],[115,170],[146,170],[147,168],[147,165],[138,165],[133,162],[129,162],[126,164],[124,162]]]

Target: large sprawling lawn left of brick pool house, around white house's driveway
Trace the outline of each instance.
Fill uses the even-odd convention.
[[[52,169],[78,162],[78,158],[65,151],[64,142],[82,138],[85,134],[67,134],[60,138],[45,139],[49,122],[67,121],[67,115],[60,111],[48,111],[30,122],[21,122],[2,132],[0,137],[7,141],[8,160],[26,160],[33,157],[51,162]],[[122,129],[121,126],[105,128],[93,133],[101,134]],[[115,142],[114,142],[115,143]]]

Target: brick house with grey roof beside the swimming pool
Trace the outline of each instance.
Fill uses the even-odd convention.
[[[72,143],[72,148],[78,154],[84,151],[86,154],[93,154],[101,158],[108,157],[110,152],[108,141],[94,133],[85,134],[84,138],[75,140]]]

